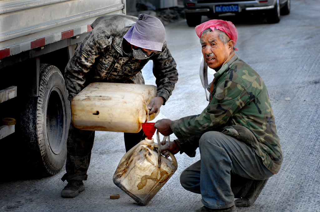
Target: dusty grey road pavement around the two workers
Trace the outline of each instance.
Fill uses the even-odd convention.
[[[269,179],[251,207],[237,211],[320,212],[319,1],[292,1],[291,13],[282,16],[278,24],[269,25],[261,19],[230,20],[239,33],[238,56],[260,73],[268,87],[284,151],[280,172]],[[198,77],[199,40],[185,20],[167,25],[166,32],[180,75],[157,119],[198,114],[207,104]],[[154,84],[151,68],[148,63],[143,70],[146,84]],[[181,171],[199,160],[199,153],[195,158],[176,155],[178,170],[147,206],[137,205],[112,182],[124,153],[123,133],[97,132],[86,189],[78,197],[61,198],[66,185],[60,180],[64,170],[42,179],[23,179],[22,173],[17,179],[0,182],[0,211],[182,212],[202,206],[201,195],[185,191],[179,183]],[[3,170],[2,175],[7,172]],[[113,193],[119,193],[120,199],[109,199]]]

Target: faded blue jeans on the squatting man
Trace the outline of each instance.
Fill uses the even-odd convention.
[[[252,147],[229,135],[206,132],[199,140],[199,150],[201,160],[181,173],[180,183],[188,191],[201,193],[208,208],[234,205],[231,176],[263,180],[273,175]]]

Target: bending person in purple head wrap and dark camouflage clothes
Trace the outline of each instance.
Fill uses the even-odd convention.
[[[157,96],[151,99],[149,114],[159,110],[172,94],[178,80],[176,63],[165,41],[161,21],[147,14],[139,18],[126,15],[101,16],[92,23],[92,31],[84,38],[69,60],[65,79],[71,101],[92,82],[144,84],[141,69],[153,60]],[[126,151],[141,141],[140,133],[124,133]],[[87,179],[94,131],[70,125],[67,141],[67,173],[61,178],[68,185],[62,197],[75,197],[84,190]]]

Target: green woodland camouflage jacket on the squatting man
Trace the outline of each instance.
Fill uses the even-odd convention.
[[[220,131],[251,145],[268,170],[277,173],[283,154],[263,80],[236,55],[214,78],[212,100],[202,113],[171,122],[180,153],[194,156],[203,133]]]

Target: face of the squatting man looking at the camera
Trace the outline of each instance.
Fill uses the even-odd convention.
[[[219,38],[219,31],[207,32],[201,36],[201,48],[204,61],[215,71],[228,59],[233,50],[233,41],[226,45]]]

